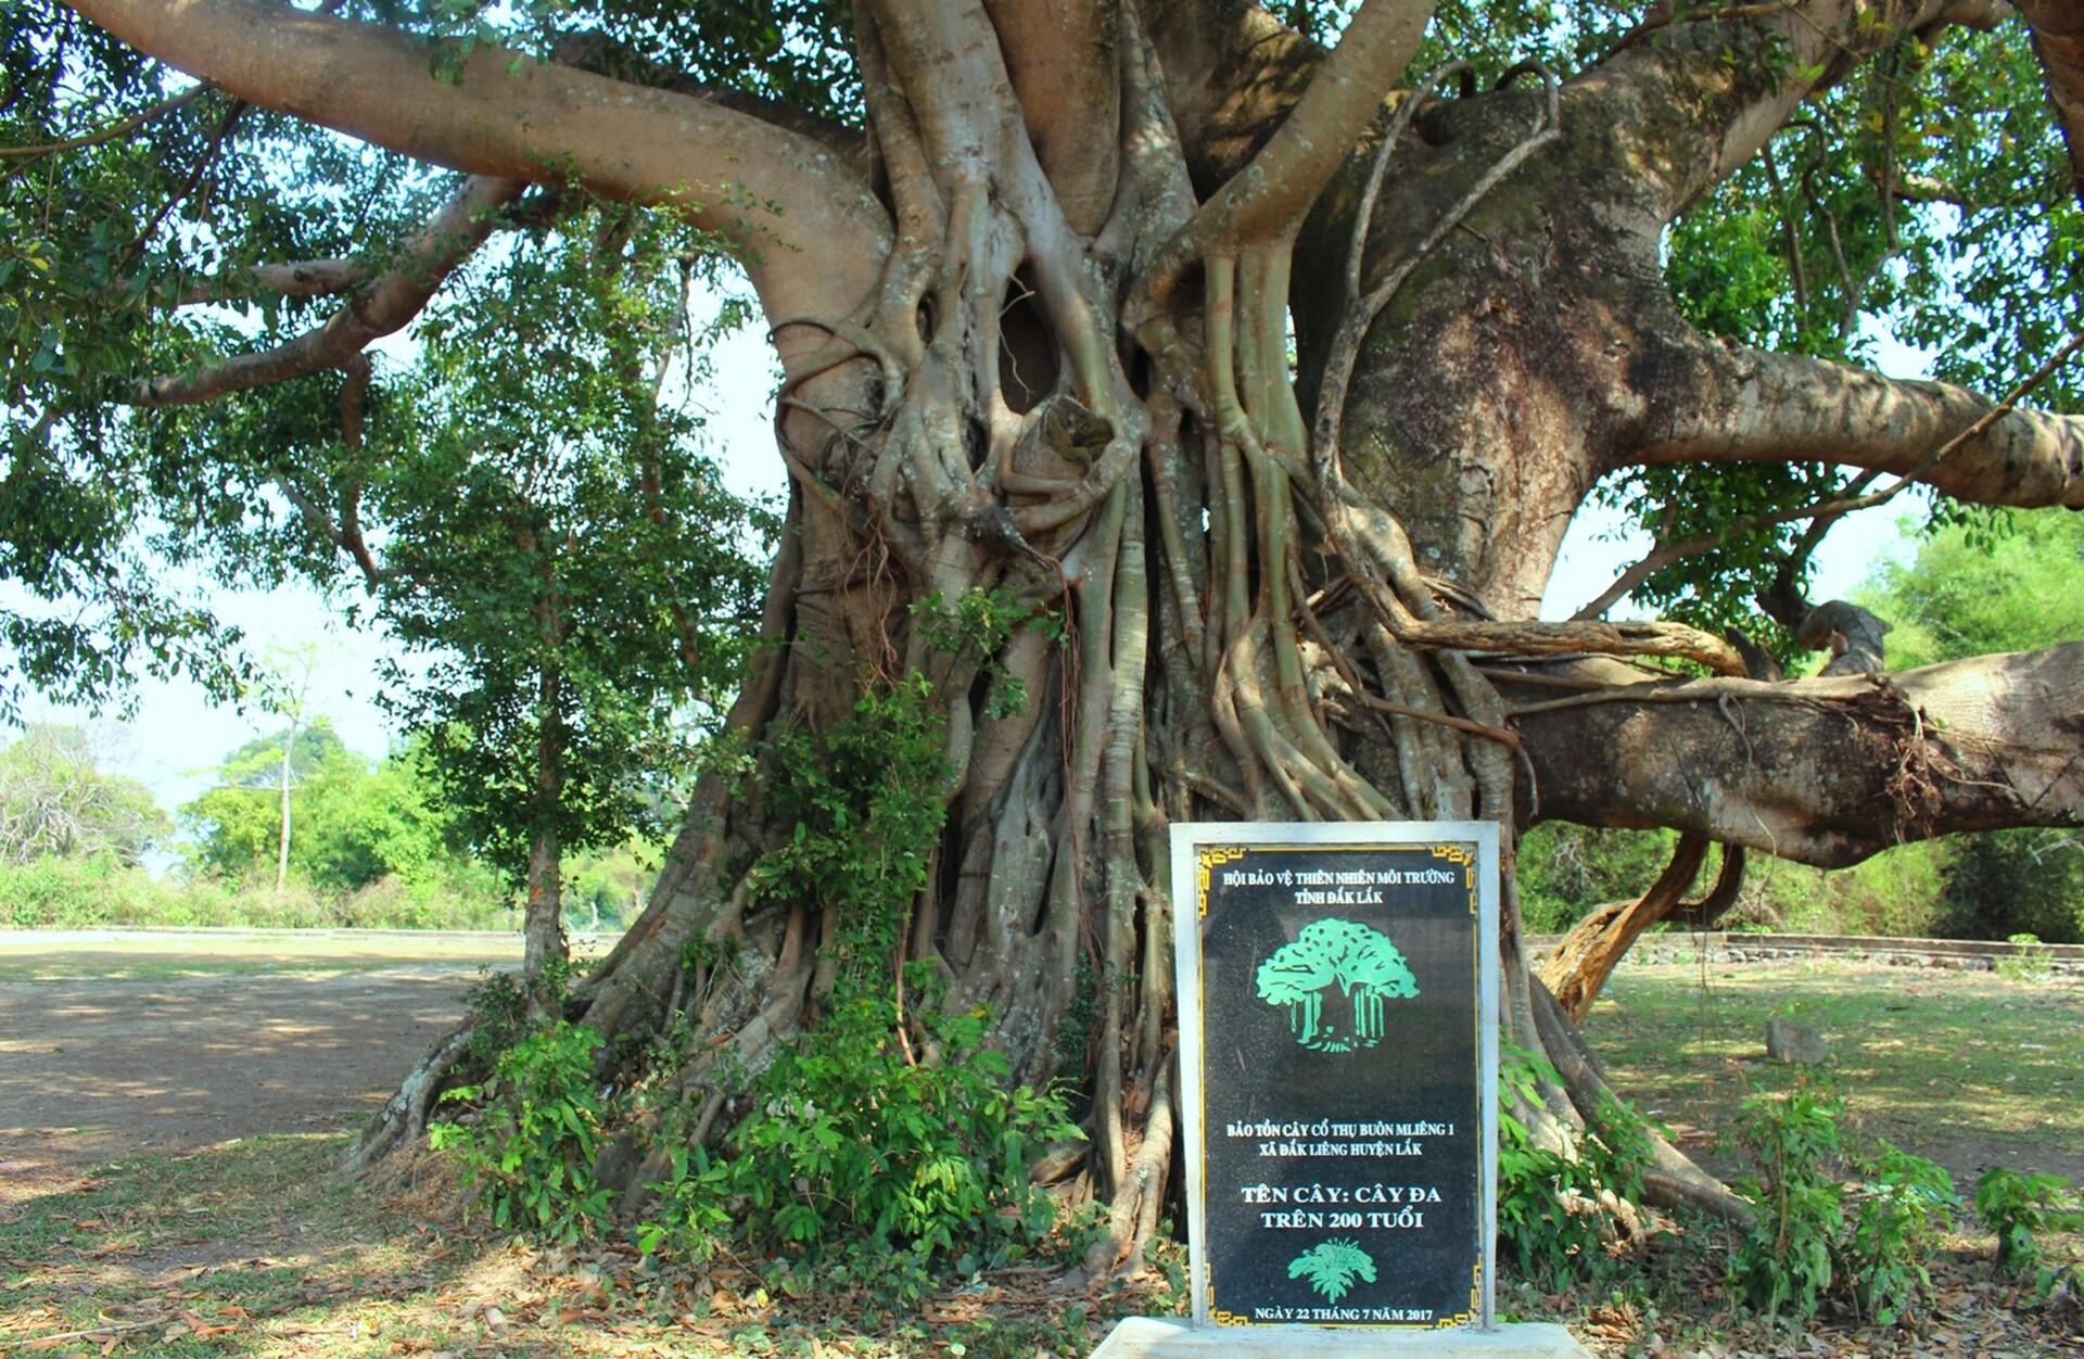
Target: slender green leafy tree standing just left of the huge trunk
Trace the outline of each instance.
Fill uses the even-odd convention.
[[[759,617],[771,515],[661,402],[700,367],[669,371],[700,244],[627,211],[511,242],[423,317],[417,381],[361,450],[377,617],[429,659],[386,705],[456,830],[525,892],[529,975],[565,957],[565,855],[677,811],[694,709]]]

